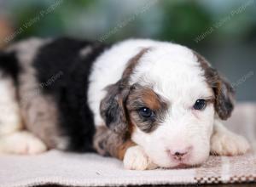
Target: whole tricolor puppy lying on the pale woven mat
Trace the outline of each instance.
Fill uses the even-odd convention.
[[[96,150],[145,170],[249,149],[221,123],[233,110],[230,84],[172,42],[33,38],[1,52],[0,76],[2,153]]]

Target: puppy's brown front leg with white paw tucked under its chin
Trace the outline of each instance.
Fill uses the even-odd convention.
[[[108,127],[97,127],[94,147],[102,156],[113,156],[124,161],[126,169],[147,170],[157,166],[150,161],[142,147],[131,139],[113,133]]]

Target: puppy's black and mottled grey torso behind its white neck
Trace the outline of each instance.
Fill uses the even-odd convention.
[[[15,83],[12,89],[16,90],[23,125],[49,148],[92,149],[95,127],[86,105],[88,78],[104,48],[67,38],[33,38],[1,55],[2,79]]]

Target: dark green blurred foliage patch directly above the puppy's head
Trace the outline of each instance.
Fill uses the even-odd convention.
[[[164,1],[162,7],[166,16],[162,20],[163,28],[159,37],[163,40],[194,42],[191,38],[212,26],[211,14],[195,1]]]

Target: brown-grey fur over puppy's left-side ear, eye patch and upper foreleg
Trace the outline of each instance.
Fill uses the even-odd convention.
[[[135,145],[131,133],[135,125],[144,132],[152,132],[163,119],[167,104],[151,88],[129,85],[129,78],[139,59],[148,51],[141,50],[131,58],[119,82],[109,85],[106,97],[101,102],[101,115],[107,127],[98,127],[94,138],[95,149],[103,156],[123,159],[125,151]],[[148,107],[155,112],[154,122],[143,122],[138,116],[139,107]]]

